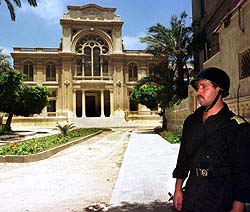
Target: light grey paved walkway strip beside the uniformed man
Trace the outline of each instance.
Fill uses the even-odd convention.
[[[169,144],[152,130],[132,132],[111,205],[167,202],[168,192],[174,191],[178,149],[178,144]]]

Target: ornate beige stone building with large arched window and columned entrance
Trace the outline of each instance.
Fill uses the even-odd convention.
[[[26,75],[25,83],[47,86],[51,93],[49,106],[29,121],[154,116],[145,107],[130,104],[129,94],[140,78],[150,74],[156,59],[124,49],[123,22],[115,11],[95,4],[68,6],[60,19],[59,48],[14,47],[14,68]],[[15,117],[13,123],[24,121]]]

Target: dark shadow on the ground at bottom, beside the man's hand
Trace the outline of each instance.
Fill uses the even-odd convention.
[[[127,203],[123,202],[120,206],[111,207],[109,212],[177,212],[173,204],[154,201],[152,203]]]

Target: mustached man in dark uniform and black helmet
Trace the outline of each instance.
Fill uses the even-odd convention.
[[[250,126],[223,102],[230,86],[223,70],[206,68],[191,85],[201,106],[184,122],[174,205],[182,212],[243,212],[250,202]]]

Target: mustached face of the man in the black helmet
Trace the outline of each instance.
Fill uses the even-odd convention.
[[[201,106],[208,107],[212,104],[220,88],[214,87],[208,80],[199,80],[197,86],[197,99]]]

